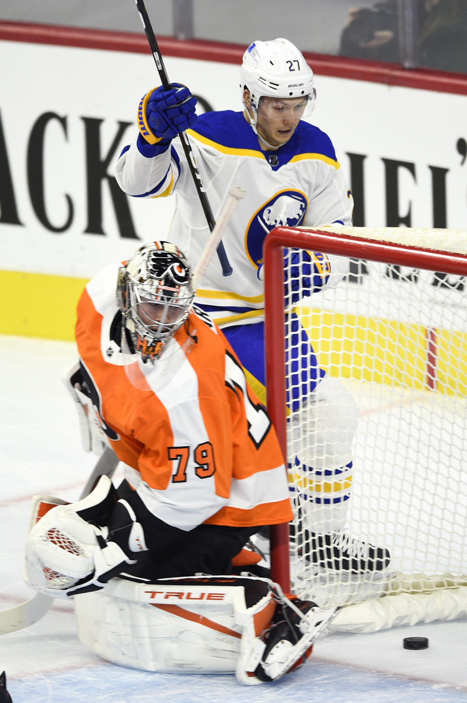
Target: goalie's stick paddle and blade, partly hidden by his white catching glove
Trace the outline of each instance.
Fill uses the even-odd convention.
[[[79,500],[91,493],[100,476],[108,476],[111,478],[118,465],[119,459],[117,455],[110,447],[107,447],[102,456],[98,459],[96,466],[93,468],[86,486],[84,486],[84,489],[81,491]],[[44,617],[52,603],[53,598],[49,598],[48,595],[44,595],[44,593],[36,593],[32,598],[25,600],[25,602],[20,603],[20,605],[15,605],[13,608],[1,611],[0,635],[6,635],[10,632],[29,627],[29,625],[34,625],[41,617]]]

